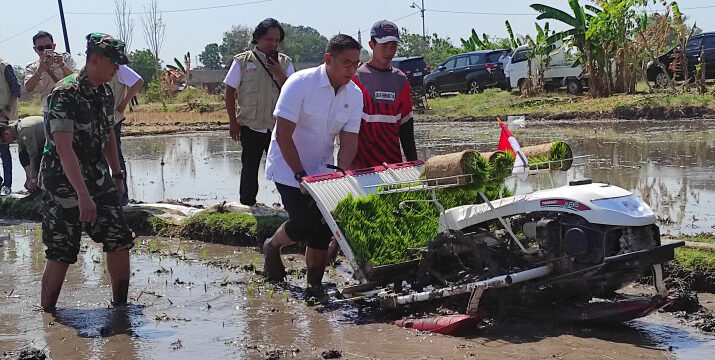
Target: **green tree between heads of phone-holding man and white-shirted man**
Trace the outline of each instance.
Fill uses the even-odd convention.
[[[294,62],[320,62],[325,55],[328,39],[318,30],[309,26],[293,26],[282,23],[286,36],[281,43],[281,51]]]

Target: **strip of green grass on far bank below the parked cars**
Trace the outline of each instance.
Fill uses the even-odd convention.
[[[715,90],[714,86],[709,87]],[[712,94],[649,94],[639,84],[637,94],[616,94],[608,98],[591,99],[564,92],[547,92],[534,97],[522,97],[499,89],[487,89],[481,94],[459,94],[429,100],[434,115],[446,117],[504,116],[530,113],[611,112],[624,106],[704,106],[715,109]]]

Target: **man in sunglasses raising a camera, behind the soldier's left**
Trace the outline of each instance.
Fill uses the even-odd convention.
[[[42,111],[47,117],[47,97],[58,81],[76,72],[77,68],[70,54],[55,52],[54,39],[47,31],[35,34],[32,44],[39,59],[25,68],[25,91],[40,95]]]

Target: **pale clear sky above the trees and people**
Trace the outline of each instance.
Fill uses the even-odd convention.
[[[147,48],[141,24],[141,15],[149,0],[128,0],[132,7],[134,31],[130,50]],[[504,20],[509,20],[517,34],[535,32],[537,13],[529,5],[541,3],[568,11],[567,0],[414,0],[418,7],[424,2],[427,34],[438,33],[449,37],[458,45],[459,39],[469,36],[471,29],[506,37]],[[36,60],[32,50],[32,36],[45,30],[54,36],[57,49],[64,51],[62,25],[58,2],[55,0],[0,0],[3,16],[0,21],[0,58],[13,65],[25,66]],[[362,31],[363,46],[367,46],[370,27],[378,20],[395,21],[400,28],[411,33],[422,32],[419,8],[410,8],[412,0],[159,0],[166,23],[166,35],[160,58],[173,63],[191,52],[192,64],[197,55],[210,43],[220,44],[223,33],[233,25],[254,28],[266,17],[291,25],[310,26],[330,38],[345,33],[357,38]],[[587,3],[582,0],[582,3]],[[680,0],[683,13],[690,22],[695,21],[703,31],[715,30],[715,4],[712,0]],[[70,48],[75,61],[84,63],[84,37],[90,32],[115,34],[114,0],[64,0],[65,20]],[[660,2],[649,7],[662,10]],[[551,21],[551,29],[560,30]],[[194,66],[194,65],[192,65]]]

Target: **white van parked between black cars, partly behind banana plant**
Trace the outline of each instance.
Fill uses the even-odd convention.
[[[560,44],[556,43],[553,46],[556,49]],[[527,58],[529,49],[528,45],[516,48],[504,71],[509,81],[509,87],[518,88],[519,92],[523,92],[524,84],[529,77]],[[539,65],[537,59],[532,59],[531,72],[534,76],[538,76]],[[569,94],[580,94],[583,88],[588,86],[588,75],[582,67],[574,67],[573,61],[566,60],[566,54],[561,50],[549,56],[549,66],[544,70],[544,87],[558,89],[563,86],[566,87]]]

